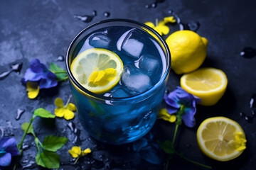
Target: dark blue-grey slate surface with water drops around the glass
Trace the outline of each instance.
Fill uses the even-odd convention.
[[[52,91],[41,91],[35,100],[28,99],[26,88],[21,84],[29,61],[38,58],[46,64],[55,62],[65,68],[65,62],[57,61],[58,56],[65,56],[70,41],[91,23],[107,18],[128,18],[139,22],[161,20],[169,16],[169,10],[175,11],[183,23],[200,23],[197,33],[209,41],[208,55],[203,66],[222,69],[228,77],[228,89],[215,106],[198,106],[195,128],[180,128],[176,148],[188,158],[213,166],[213,169],[255,169],[256,163],[256,118],[247,122],[240,112],[251,115],[250,98],[256,93],[256,57],[245,58],[240,55],[244,47],[256,47],[256,2],[255,1],[162,1],[156,8],[146,8],[154,1],[58,1],[26,0],[0,2],[0,74],[10,69],[10,64],[22,62],[21,73],[11,72],[0,80],[0,127],[1,135],[13,136],[21,140],[21,124],[27,122],[36,108],[43,107],[53,113],[54,99],[68,100],[70,86],[65,81]],[[74,15],[97,16],[89,23],[74,18]],[[105,16],[107,12],[110,16]],[[253,56],[253,55],[252,55]],[[169,88],[179,85],[180,76],[171,71]],[[17,110],[24,110],[16,120]],[[223,115],[238,121],[245,130],[247,149],[230,162],[216,162],[203,156],[196,143],[198,125],[206,118]],[[79,132],[75,134],[68,128],[74,123]],[[54,121],[37,118],[33,123],[40,140],[46,135],[68,137],[69,142],[58,151],[60,169],[164,169],[165,159],[160,165],[150,164],[132,152],[131,145],[114,147],[103,145],[88,137],[78,118],[66,121],[56,118]],[[2,133],[4,132],[4,134]],[[152,130],[156,139],[171,140],[174,125],[157,120]],[[78,140],[75,137],[78,135]],[[34,164],[36,147],[33,137],[24,141],[28,148],[23,152],[21,166],[27,169],[42,169]],[[73,165],[68,149],[73,145],[92,148],[92,155],[79,160]],[[31,165],[31,166],[30,166]],[[183,159],[174,158],[170,169],[200,169]]]

